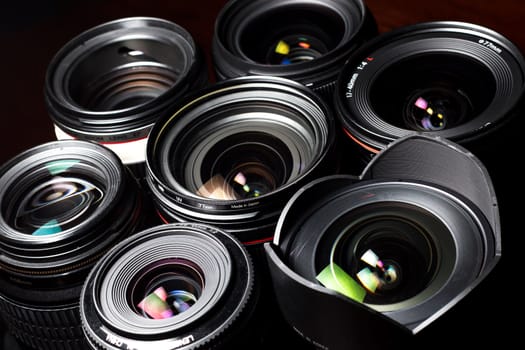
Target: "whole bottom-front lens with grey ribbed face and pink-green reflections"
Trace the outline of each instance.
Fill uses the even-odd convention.
[[[194,223],[154,226],[110,250],[80,298],[93,349],[228,347],[257,296],[251,257],[232,235]]]

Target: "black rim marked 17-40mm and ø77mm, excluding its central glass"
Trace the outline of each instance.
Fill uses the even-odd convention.
[[[433,56],[439,59],[429,63]],[[479,95],[480,106],[474,108],[474,115],[456,125],[425,133],[465,146],[494,134],[521,110],[525,60],[514,43],[477,24],[423,22],[382,33],[362,45],[345,63],[334,94],[334,108],[344,131],[372,153],[397,138],[421,132],[402,125],[393,108],[383,108],[381,112],[378,109],[380,105],[389,105],[386,101],[390,98],[403,103],[408,97],[398,97],[397,91],[402,90],[407,81],[425,79],[442,64],[443,58],[453,62],[452,68],[460,76],[458,81],[471,84],[473,94]],[[415,63],[409,64],[412,61]],[[426,68],[419,68],[423,64]],[[403,69],[392,68],[401,65]],[[448,68],[440,69],[450,71],[452,68],[449,64]],[[374,95],[374,84],[385,77],[389,69],[399,77],[384,78],[384,91],[381,96]]]

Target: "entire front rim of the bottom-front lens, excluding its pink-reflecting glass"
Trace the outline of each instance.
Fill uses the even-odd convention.
[[[205,285],[201,296],[188,310],[171,318],[137,315],[126,301],[135,274],[173,254],[202,269]],[[255,288],[251,257],[233,236],[196,223],[154,226],[114,246],[90,272],[80,298],[83,330],[89,342],[100,348],[115,346],[115,342],[134,348],[211,345],[242,326],[255,306]]]

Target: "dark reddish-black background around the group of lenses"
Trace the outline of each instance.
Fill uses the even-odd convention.
[[[52,56],[67,41],[109,20],[128,16],[162,17],[178,23],[193,35],[207,54],[211,72],[213,26],[225,2],[4,1],[0,9],[0,164],[22,150],[55,139],[44,105],[44,74]],[[381,32],[429,20],[460,20],[492,28],[525,50],[522,0],[369,0],[366,3]],[[518,140],[507,142],[504,149],[494,149],[495,156],[501,159],[496,166],[501,167],[499,174],[503,174],[495,182],[501,208],[502,259],[467,298],[418,335],[420,343],[425,345],[423,348],[458,348],[458,343],[469,349],[522,344],[524,322],[519,317],[525,297],[519,285],[524,279],[520,257],[523,225],[518,222],[516,206],[522,206],[523,190],[516,163],[522,163],[524,157]],[[377,336],[381,337],[380,330]],[[275,339],[275,346],[271,348],[280,348],[280,343],[281,340]],[[296,348],[301,344],[298,342]]]

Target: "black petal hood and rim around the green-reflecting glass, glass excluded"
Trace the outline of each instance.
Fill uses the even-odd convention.
[[[429,151],[438,161],[423,156]],[[446,222],[446,229],[430,233],[441,262],[426,289],[414,302],[385,307],[319,284],[312,270],[328,227],[344,220],[345,211],[385,201],[433,212]],[[486,169],[472,153],[451,141],[416,134],[390,144],[359,177],[327,176],[302,187],[287,203],[274,240],[264,250],[285,319],[312,343],[330,349],[408,345],[417,340],[410,335],[464,298],[499,261],[498,206]],[[385,336],[376,339],[374,334],[383,331]]]

